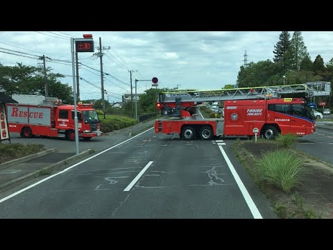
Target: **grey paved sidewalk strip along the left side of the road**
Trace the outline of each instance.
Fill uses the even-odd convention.
[[[112,147],[112,144],[117,144],[119,140],[123,140],[123,138],[131,138],[142,133],[148,128],[152,128],[154,124],[155,119],[148,122],[142,122],[135,126],[123,128],[111,133],[105,133],[108,137],[103,135],[103,138],[108,138],[108,142],[110,141],[108,147]],[[85,151],[82,151],[78,155],[76,155],[75,152],[64,152],[60,149],[53,148],[31,156],[11,160],[7,163],[1,163],[0,193],[15,188],[17,185],[32,181],[33,179],[37,180],[40,176],[49,176],[57,171],[61,171],[70,165],[78,163],[84,158],[92,156],[93,153],[102,151],[104,148],[103,144],[101,144],[101,147],[99,148],[96,148],[96,144],[94,144],[94,146],[91,146],[91,149],[85,149]]]

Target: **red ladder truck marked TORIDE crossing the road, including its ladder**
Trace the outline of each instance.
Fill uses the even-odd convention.
[[[157,119],[155,133],[178,134],[185,140],[197,136],[211,140],[215,135],[254,136],[272,139],[292,133],[298,136],[316,131],[314,117],[302,98],[282,95],[305,94],[305,97],[330,96],[330,82],[311,82],[256,88],[191,90],[163,92],[157,108],[170,119]],[[224,119],[199,117],[198,107],[207,101],[224,101]],[[257,129],[254,129],[257,128]]]

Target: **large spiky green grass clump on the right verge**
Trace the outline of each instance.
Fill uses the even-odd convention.
[[[292,188],[300,185],[302,163],[303,160],[288,149],[279,149],[265,153],[257,165],[263,181],[289,193]]]

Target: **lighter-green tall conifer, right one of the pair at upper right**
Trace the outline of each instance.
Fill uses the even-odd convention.
[[[290,63],[290,69],[300,69],[300,63],[305,56],[310,57],[300,31],[295,31],[293,33],[293,38],[291,38],[291,42],[285,56],[286,61],[289,61]]]

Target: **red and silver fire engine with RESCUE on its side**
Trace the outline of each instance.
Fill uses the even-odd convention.
[[[35,135],[75,140],[74,106],[37,95],[13,94],[18,103],[7,103],[8,129],[22,138]],[[92,104],[78,103],[78,136],[84,140],[101,136],[99,117]]]

